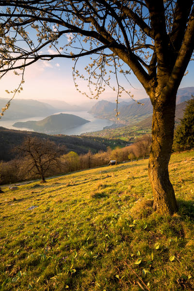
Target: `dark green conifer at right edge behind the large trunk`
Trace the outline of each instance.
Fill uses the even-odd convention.
[[[194,148],[194,96],[187,101],[184,116],[175,131],[174,148],[178,150]]]

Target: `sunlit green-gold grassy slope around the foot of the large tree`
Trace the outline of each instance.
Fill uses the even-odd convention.
[[[173,217],[151,213],[147,160],[2,188],[0,290],[194,290],[194,151],[169,169]]]

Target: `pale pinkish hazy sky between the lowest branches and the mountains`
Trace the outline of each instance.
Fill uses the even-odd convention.
[[[48,48],[49,51],[49,48]],[[79,69],[84,68],[88,62],[88,58],[84,57],[80,60]],[[74,62],[70,59],[54,59],[52,61],[38,61],[32,66],[26,68],[25,71],[25,84],[23,84],[23,92],[16,94],[16,98],[20,99],[56,99],[64,100],[67,103],[79,104],[89,99],[79,93],[73,82],[72,66]],[[181,87],[194,86],[194,61],[189,64],[189,73],[184,76]],[[84,70],[83,70],[84,71]],[[130,90],[136,99],[146,98],[146,92],[141,86],[137,78],[131,74],[129,76],[130,84],[121,76],[121,85]],[[9,72],[0,82],[0,97],[8,98],[11,94],[5,92],[6,89],[12,90],[19,84],[20,78],[13,72]],[[87,82],[78,82],[82,91],[87,91]],[[113,86],[116,86],[114,80]],[[116,98],[116,94],[109,87],[99,100]],[[122,98],[129,98],[126,94]]]

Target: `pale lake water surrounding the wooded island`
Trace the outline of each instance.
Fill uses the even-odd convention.
[[[84,118],[84,119],[90,121],[90,122],[87,122],[83,125],[71,128],[69,130],[59,132],[59,134],[64,134],[64,135],[69,135],[69,136],[70,135],[81,135],[82,133],[86,133],[86,132],[102,130],[105,126],[110,126],[113,124],[113,121],[111,121],[111,120],[98,119],[86,111],[68,111],[68,112],[65,111],[65,112],[58,112],[55,114],[59,114],[59,113],[74,114],[76,116],[79,116],[81,118]],[[21,121],[21,122],[28,121],[28,120],[38,121],[38,120],[42,120],[44,118],[46,118],[46,116],[45,117],[25,118],[25,119],[19,119],[19,120],[5,120],[5,121],[3,121],[3,118],[2,118],[2,119],[0,119],[0,126],[5,127],[5,128],[9,128],[9,129],[33,131],[33,130],[31,130],[29,128],[25,128],[25,127],[16,128],[13,126],[13,124],[15,122],[18,122],[18,121]]]

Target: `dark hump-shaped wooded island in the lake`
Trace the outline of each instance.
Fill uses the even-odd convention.
[[[90,122],[89,120],[85,120],[79,116],[73,114],[55,114],[46,117],[43,120],[39,121],[25,121],[25,122],[16,122],[13,124],[14,127],[20,128],[29,128],[36,132],[42,133],[62,133],[67,129],[80,126]]]

